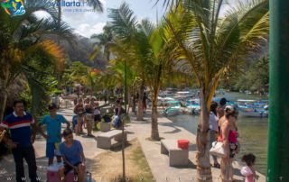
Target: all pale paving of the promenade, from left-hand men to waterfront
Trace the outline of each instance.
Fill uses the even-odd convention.
[[[61,109],[60,114],[63,114],[69,121],[72,118],[72,108]],[[190,165],[185,168],[172,168],[169,166],[168,156],[161,154],[161,144],[160,141],[149,141],[147,138],[151,133],[151,123],[149,115],[146,115],[143,122],[135,121],[135,117],[132,116],[132,122],[127,124],[126,130],[128,131],[128,141],[137,138],[141,144],[141,147],[144,151],[144,156],[148,161],[148,164],[152,170],[152,173],[157,182],[163,181],[195,181],[196,174],[196,161],[195,161],[195,151],[196,145],[195,143],[195,135],[191,132],[186,131],[181,127],[174,126],[172,121],[167,118],[160,117],[159,118],[159,132],[160,136],[165,139],[187,139],[191,141],[189,159]],[[64,125],[63,125],[64,127]],[[93,132],[95,136],[97,136],[100,132]],[[98,167],[98,161],[95,157],[105,151],[97,148],[97,141],[95,138],[88,138],[85,135],[83,136],[75,136],[75,139],[81,141],[85,156],[87,159],[87,165],[89,168]],[[42,136],[38,136],[37,140],[34,143],[34,148],[36,152],[37,158],[37,166],[38,166],[38,174],[42,177],[42,181],[46,181],[46,168],[48,160],[45,158],[45,146],[46,141],[42,138]],[[119,167],[121,168],[121,167]],[[237,181],[243,181],[242,177],[239,174],[239,165],[237,162],[234,162],[235,168],[235,178]],[[25,168],[26,177],[27,174],[27,166]],[[93,171],[91,171],[93,172]],[[113,173],[113,171],[111,171]],[[212,174],[214,181],[219,180],[219,169],[212,168]],[[6,181],[7,177],[15,177],[14,173],[14,159],[12,155],[6,156],[4,159],[0,161],[0,181]],[[14,179],[12,180],[14,181]],[[28,181],[28,180],[27,180]],[[99,179],[95,179],[95,181],[99,181]],[[141,180],[140,180],[141,181]],[[260,175],[260,182],[265,182],[265,177]]]

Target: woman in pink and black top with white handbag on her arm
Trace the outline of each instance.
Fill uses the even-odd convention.
[[[234,107],[226,106],[225,113],[226,121],[221,125],[218,139],[218,141],[223,142],[226,150],[226,156],[220,162],[222,182],[233,181],[232,162],[239,150],[238,129],[236,127],[238,112]]]

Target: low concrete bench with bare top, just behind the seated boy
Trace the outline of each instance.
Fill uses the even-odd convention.
[[[112,130],[109,132],[103,132],[97,136],[98,148],[109,150],[111,147],[111,140],[122,141],[122,131]],[[127,134],[125,132],[125,141],[127,141]]]

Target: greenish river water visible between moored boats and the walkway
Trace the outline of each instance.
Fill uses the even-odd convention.
[[[237,99],[266,99],[265,97],[239,93],[228,93],[225,97],[232,101]],[[183,127],[194,134],[197,133],[198,115],[182,114],[169,119],[177,126]],[[237,159],[241,160],[244,154],[253,153],[256,155],[256,169],[262,174],[266,174],[268,118],[245,117],[239,114],[237,125],[238,141],[241,144]]]

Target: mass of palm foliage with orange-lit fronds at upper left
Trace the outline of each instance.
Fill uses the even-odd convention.
[[[48,96],[58,92],[54,76],[61,73],[65,62],[61,48],[44,40],[44,35],[72,41],[73,33],[66,23],[56,23],[57,9],[48,1],[30,0],[25,9],[25,14],[16,17],[0,11],[0,87],[6,89],[16,77],[24,77],[30,89],[23,96],[32,94],[26,98],[31,99],[32,113],[37,116],[45,113]],[[39,20],[34,13],[40,10],[51,18]]]

